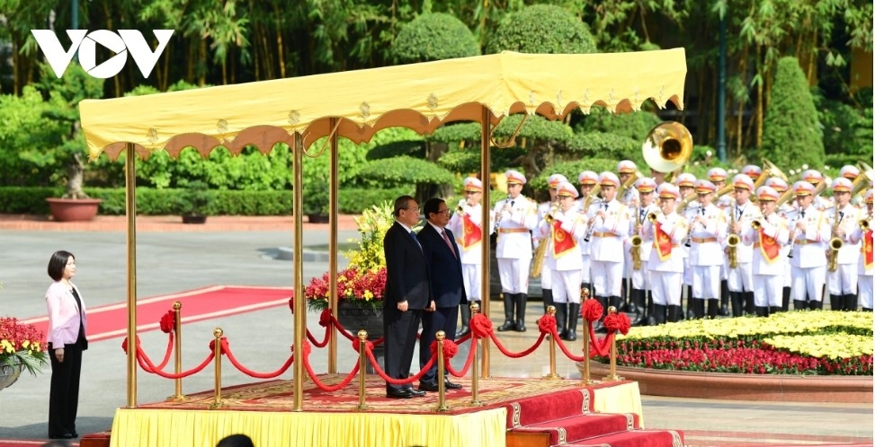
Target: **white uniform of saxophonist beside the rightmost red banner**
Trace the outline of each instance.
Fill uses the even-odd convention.
[[[848,204],[844,206],[838,213],[839,226],[844,228],[844,237],[841,238],[844,242],[841,250],[838,250],[838,268],[835,272],[830,272],[827,269],[826,285],[829,288],[831,295],[849,295],[857,293],[857,264],[860,259],[860,244],[850,241],[848,236],[858,226],[860,221],[860,209],[856,206]],[[826,210],[826,222],[832,225],[835,223],[835,206]],[[835,231],[834,231],[835,233]],[[831,250],[830,250],[831,251]]]

